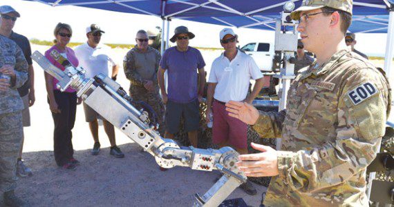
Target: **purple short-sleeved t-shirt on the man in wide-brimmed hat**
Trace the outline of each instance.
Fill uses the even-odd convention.
[[[198,96],[197,70],[204,68],[200,50],[188,47],[185,52],[176,47],[165,50],[160,67],[167,70],[168,99],[176,103],[190,103]]]

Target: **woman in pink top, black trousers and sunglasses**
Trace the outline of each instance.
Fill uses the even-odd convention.
[[[73,30],[66,23],[58,23],[55,34],[55,45],[45,52],[45,57],[53,63],[54,66],[64,70],[64,66],[59,64],[50,56],[52,50],[57,50],[61,55],[66,57],[73,66],[78,66],[78,59],[71,48],[67,47],[70,42]],[[72,88],[67,88],[61,92],[56,88],[59,81],[54,77],[45,73],[46,91],[48,92],[48,103],[52,112],[55,130],[53,132],[55,161],[58,166],[62,166],[67,170],[75,170],[79,161],[74,159],[73,143],[71,138],[73,134],[71,130],[74,127],[75,115],[77,112],[77,104],[81,103],[81,99],[77,98],[77,92]]]

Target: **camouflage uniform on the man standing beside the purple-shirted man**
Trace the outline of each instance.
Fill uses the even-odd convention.
[[[138,61],[136,56],[144,56],[144,63]],[[161,56],[158,50],[148,47],[146,52],[142,52],[140,49],[135,47],[129,50],[124,57],[123,68],[124,75],[126,75],[126,78],[130,80],[130,96],[136,101],[144,101],[145,103],[148,103],[149,106],[155,110],[159,117],[158,122],[160,124],[160,134],[164,135],[165,126],[163,116],[165,108],[159,95],[159,86],[157,81],[160,59]],[[143,75],[143,70],[149,70],[152,68],[155,70],[153,75],[150,77]],[[149,92],[144,88],[144,80],[153,81],[155,86],[155,90],[153,92]]]

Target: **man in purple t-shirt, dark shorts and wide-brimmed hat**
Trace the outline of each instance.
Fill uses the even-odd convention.
[[[205,84],[205,62],[199,50],[189,47],[189,39],[193,38],[194,34],[187,27],[179,26],[175,29],[170,41],[176,41],[176,46],[165,50],[162,56],[158,84],[166,104],[165,137],[173,139],[180,128],[180,117],[183,117],[190,144],[196,147],[200,121],[199,99],[203,95]],[[167,91],[165,70],[168,74]]]

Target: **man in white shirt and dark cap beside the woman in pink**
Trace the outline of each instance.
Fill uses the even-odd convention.
[[[97,24],[92,24],[86,28],[86,37],[88,41],[75,48],[75,55],[79,60],[79,66],[82,66],[86,70],[86,77],[93,78],[95,75],[100,73],[109,76],[109,67],[112,66],[113,80],[116,79],[118,75],[118,65],[108,56],[109,47],[104,46],[100,43],[103,30],[100,29]],[[91,107],[84,103],[84,112],[86,122],[89,123],[89,128],[91,129],[93,139],[95,144],[93,145],[92,155],[98,155],[100,152],[100,141],[98,136],[98,122],[97,119],[102,119],[100,115],[95,112]],[[113,125],[102,119],[104,130],[106,135],[109,137],[109,142],[111,143],[110,155],[117,158],[124,157],[123,152],[116,146],[115,142],[115,130]]]

